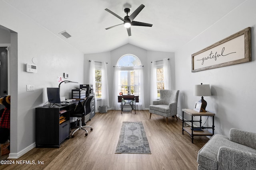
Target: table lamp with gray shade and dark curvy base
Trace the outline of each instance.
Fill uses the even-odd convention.
[[[204,100],[203,96],[212,96],[210,84],[199,84],[195,85],[194,88],[194,96],[202,96],[201,100],[199,102],[202,103],[201,111],[206,112],[205,108],[207,106],[207,102]]]

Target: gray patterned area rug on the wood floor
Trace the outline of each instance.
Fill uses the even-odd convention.
[[[124,121],[116,153],[151,154],[142,122]]]

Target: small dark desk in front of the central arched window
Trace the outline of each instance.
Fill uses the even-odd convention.
[[[121,113],[124,111],[123,108],[126,104],[129,104],[132,108],[132,110],[135,111],[136,114],[136,102],[139,102],[139,96],[134,95],[122,95],[118,96],[118,102],[121,102]]]

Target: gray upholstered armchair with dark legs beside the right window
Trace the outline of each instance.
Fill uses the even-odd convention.
[[[168,117],[177,115],[179,92],[180,90],[160,90],[160,100],[153,101],[153,105],[149,106],[150,119],[152,113],[161,115],[166,117],[168,124]]]

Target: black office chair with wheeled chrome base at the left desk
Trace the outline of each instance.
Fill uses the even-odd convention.
[[[82,126],[82,117],[84,117],[84,115],[87,115],[88,113],[91,112],[91,107],[90,107],[90,104],[91,104],[91,100],[92,100],[93,96],[88,96],[86,98],[86,100],[83,102],[83,106],[84,106],[84,111],[83,113],[71,113],[70,114],[70,117],[78,117],[78,122],[79,122],[79,127],[77,129],[75,129],[71,135],[71,137],[73,138],[74,137],[74,133],[76,131],[78,131],[79,129],[82,129],[84,131],[86,131],[85,135],[87,136],[88,135],[88,131],[85,129],[85,127],[90,127],[91,128],[91,131],[92,131],[92,127],[91,126]]]

